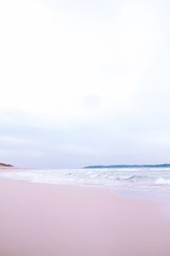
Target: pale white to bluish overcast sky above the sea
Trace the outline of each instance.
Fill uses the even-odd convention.
[[[0,162],[170,163],[167,0],[0,1]]]

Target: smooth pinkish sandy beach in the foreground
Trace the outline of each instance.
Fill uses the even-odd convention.
[[[0,256],[169,256],[163,203],[0,180]]]

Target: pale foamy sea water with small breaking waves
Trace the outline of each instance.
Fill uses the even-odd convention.
[[[170,168],[4,169],[0,178],[31,183],[102,186],[126,195],[170,201]]]

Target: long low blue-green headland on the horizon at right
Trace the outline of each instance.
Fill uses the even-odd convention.
[[[111,166],[85,166],[83,169],[103,169],[103,168],[167,168],[170,164],[162,165],[111,165]]]

